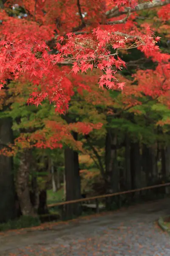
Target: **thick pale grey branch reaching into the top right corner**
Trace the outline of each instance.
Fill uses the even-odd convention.
[[[150,9],[150,8],[156,8],[156,7],[161,7],[164,5],[167,5],[170,3],[170,0],[153,0],[152,2],[146,2],[146,3],[139,3],[134,9],[131,9],[131,12],[136,12],[136,11],[142,11],[145,9]],[[125,14],[129,12],[130,7],[124,7],[123,11],[119,11],[119,8],[116,6],[110,11],[106,12],[105,15],[107,19],[110,19],[112,17],[117,17],[119,15]]]

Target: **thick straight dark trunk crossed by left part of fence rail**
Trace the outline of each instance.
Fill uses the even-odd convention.
[[[77,133],[73,133],[77,140]],[[79,159],[77,151],[65,148],[65,181],[66,181],[66,201],[81,198],[81,181],[79,175]],[[66,217],[72,218],[81,214],[79,204],[66,205]]]

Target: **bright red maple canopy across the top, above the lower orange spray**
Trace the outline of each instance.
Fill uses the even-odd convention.
[[[14,4],[24,8],[26,17],[9,17]],[[170,0],[8,0],[2,7],[0,87],[7,79],[24,76],[34,84],[28,103],[39,105],[48,99],[59,113],[68,109],[74,86],[68,68],[61,70],[60,64],[72,64],[74,74],[98,68],[103,71],[99,86],[113,89],[124,86],[115,77],[126,65],[119,58],[122,49],[137,47],[170,68],[169,57],[156,45],[160,38],[148,24],[139,29],[135,22],[137,11],[154,7],[160,7],[159,17],[167,20]]]

